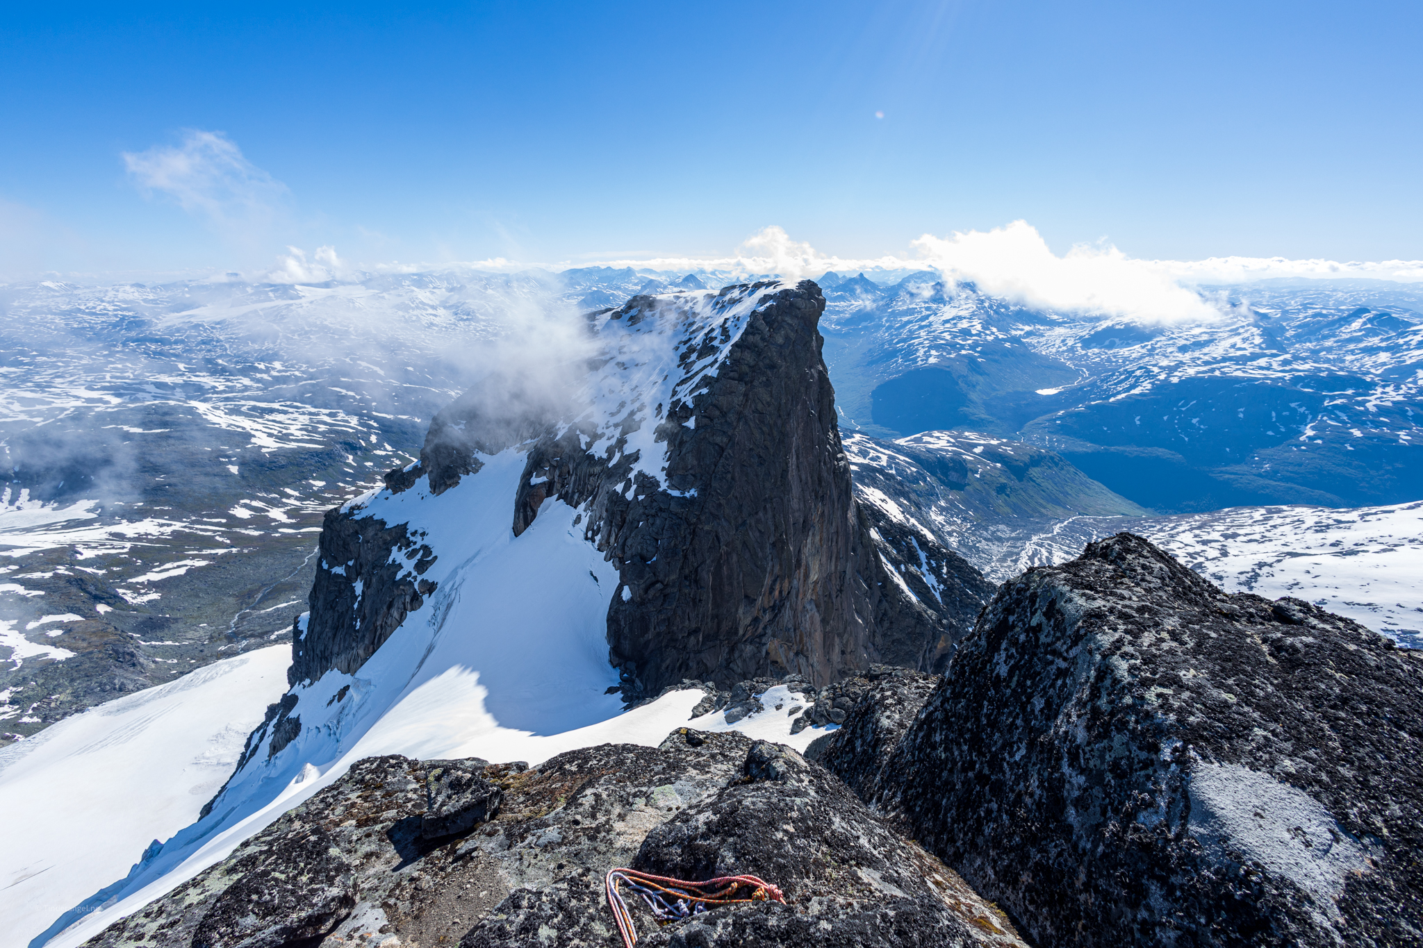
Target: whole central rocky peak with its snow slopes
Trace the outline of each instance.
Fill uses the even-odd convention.
[[[928,537],[901,559],[861,513],[821,308],[774,280],[636,296],[569,361],[443,409],[417,462],[326,515],[292,688],[232,777],[50,934],[92,934],[370,755],[539,760],[660,740],[699,704],[699,728],[804,746],[804,699],[737,719],[703,691],[942,664],[992,586]]]

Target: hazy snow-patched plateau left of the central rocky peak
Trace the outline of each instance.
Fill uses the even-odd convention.
[[[0,287],[0,743],[287,641],[324,510],[492,362],[646,280]]]

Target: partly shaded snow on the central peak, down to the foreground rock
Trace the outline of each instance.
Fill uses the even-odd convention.
[[[666,408],[690,399],[717,371],[748,314],[778,289],[679,294],[675,306],[640,320],[606,321],[598,335],[608,358],[595,360],[585,412],[576,419],[579,431],[595,432],[586,448],[606,441],[599,451],[635,458],[639,470],[660,482],[666,446],[653,439],[653,428]],[[714,344],[697,348],[713,330]],[[689,360],[689,348],[703,357]],[[538,763],[603,742],[657,745],[689,723],[700,691],[673,692],[629,712],[606,694],[618,684],[608,662],[606,617],[619,578],[579,526],[582,513],[549,499],[514,536],[512,502],[525,455],[509,448],[480,460],[478,473],[438,496],[421,480],[401,493],[371,492],[347,505],[357,517],[407,523],[435,553],[423,574],[435,591],[354,674],[330,671],[292,689],[293,716],[300,718],[296,739],[273,755],[270,733],[263,736],[209,816],[151,850],[114,887],[115,904],[48,944],[80,944],[191,878],[361,758]],[[333,567],[342,564],[327,564]],[[713,712],[692,726],[746,731],[800,748],[824,733],[808,728],[793,738],[793,718],[774,704],[734,725]]]

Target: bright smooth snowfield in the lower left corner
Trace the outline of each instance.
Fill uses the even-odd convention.
[[[0,749],[0,941],[28,944],[191,823],[286,688],[289,659],[256,650]]]

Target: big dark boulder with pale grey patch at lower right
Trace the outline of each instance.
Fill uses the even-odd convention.
[[[1005,584],[862,789],[1039,944],[1423,939],[1419,654],[1131,534]]]

